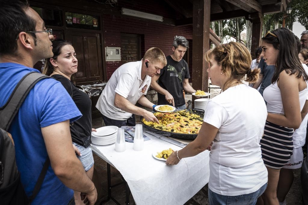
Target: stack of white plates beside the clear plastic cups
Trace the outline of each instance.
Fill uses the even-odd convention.
[[[96,145],[108,145],[115,143],[118,127],[105,126],[96,129],[92,132],[91,142]]]

